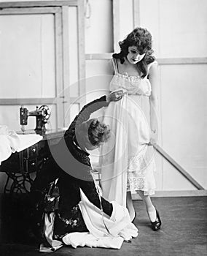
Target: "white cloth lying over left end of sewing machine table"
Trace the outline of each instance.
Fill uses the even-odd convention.
[[[15,151],[20,152],[42,140],[41,135],[17,135],[7,126],[0,126],[0,165]]]

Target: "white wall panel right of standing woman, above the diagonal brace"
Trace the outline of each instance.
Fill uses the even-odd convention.
[[[206,80],[206,64],[161,67],[163,148],[204,187]]]

